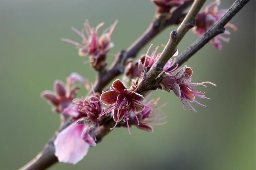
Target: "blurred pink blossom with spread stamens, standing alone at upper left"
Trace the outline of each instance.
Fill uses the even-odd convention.
[[[106,66],[105,59],[109,49],[114,47],[114,44],[110,41],[110,36],[116,24],[117,21],[113,25],[110,25],[109,29],[103,31],[102,35],[98,37],[98,29],[103,26],[103,23],[98,24],[94,29],[90,26],[88,20],[86,20],[84,30],[81,32],[74,27],[72,28],[82,38],[82,43],[70,39],[62,39],[62,41],[74,44],[78,48],[78,54],[80,56],[90,55],[90,63],[94,68],[101,69]]]

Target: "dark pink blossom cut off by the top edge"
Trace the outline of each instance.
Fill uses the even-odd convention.
[[[170,9],[184,3],[184,0],[152,0],[157,5],[157,13],[168,13]]]

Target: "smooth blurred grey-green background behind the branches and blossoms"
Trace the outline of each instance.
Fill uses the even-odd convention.
[[[233,0],[222,0],[228,8]],[[105,27],[119,22],[113,33],[115,47],[109,63],[128,47],[152,20],[150,0],[0,0],[0,169],[18,169],[30,161],[59,126],[59,116],[40,97],[52,90],[55,79],[78,72],[94,81],[95,72],[62,37],[80,41],[71,26],[82,28],[85,19]],[[211,1],[207,1],[210,3]],[[216,50],[207,44],[186,64],[193,81],[211,81],[217,87],[198,87],[211,100],[193,104],[197,113],[183,110],[180,100],[164,91],[161,96],[168,123],[154,133],[136,128],[115,129],[77,165],[57,163],[50,169],[255,169],[255,1],[231,20],[238,31]],[[152,42],[165,44],[170,27]],[[101,29],[103,30],[103,29]],[[196,35],[191,31],[178,46],[184,51]],[[148,45],[149,46],[149,45]],[[148,47],[147,46],[147,47]],[[146,52],[146,48],[140,54]],[[86,94],[81,91],[80,96]]]

